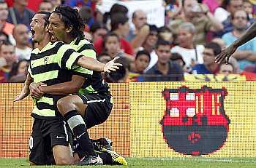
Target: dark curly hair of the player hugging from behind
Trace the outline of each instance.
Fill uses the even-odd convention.
[[[61,21],[64,23],[65,27],[68,28],[72,26],[72,31],[70,32],[72,38],[83,39],[83,29],[85,24],[78,13],[78,9],[73,9],[69,6],[59,6],[53,11],[60,16]]]

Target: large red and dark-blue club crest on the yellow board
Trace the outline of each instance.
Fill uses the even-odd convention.
[[[165,89],[165,116],[160,121],[165,142],[178,153],[192,156],[214,153],[227,139],[230,119],[225,115],[227,90]]]

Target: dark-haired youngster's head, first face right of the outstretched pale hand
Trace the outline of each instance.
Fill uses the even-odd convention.
[[[143,74],[150,62],[150,55],[145,50],[137,52],[135,57],[134,67],[130,70],[131,73]]]

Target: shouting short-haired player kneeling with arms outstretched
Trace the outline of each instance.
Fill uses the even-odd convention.
[[[32,39],[37,42],[38,48],[34,49],[31,54],[26,85],[15,100],[21,100],[28,95],[28,86],[32,80],[48,85],[70,81],[72,74],[68,70],[77,69],[79,65],[96,71],[110,71],[117,68],[118,64],[113,62],[105,65],[92,58],[83,57],[63,42],[50,43],[47,27],[48,16],[48,12],[37,12],[31,21]],[[88,69],[83,71],[84,76],[91,74],[92,71]],[[56,111],[56,102],[61,97],[64,95],[45,94],[40,99],[34,98],[36,105],[31,114],[34,117],[34,124],[29,140],[31,164],[54,164],[54,162],[66,165],[74,164],[66,123],[62,121],[60,113]],[[52,161],[52,155],[55,161]]]

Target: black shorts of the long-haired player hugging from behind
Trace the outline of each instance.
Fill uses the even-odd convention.
[[[88,105],[83,119],[89,129],[95,125],[102,124],[110,116],[112,110],[112,97],[110,94],[87,94],[78,95],[83,103]]]

